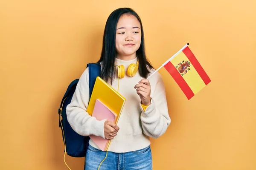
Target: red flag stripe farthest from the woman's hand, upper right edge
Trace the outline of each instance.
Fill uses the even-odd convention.
[[[194,54],[189,49],[189,47],[184,48],[183,53],[186,55],[186,57],[189,59],[191,64],[194,66],[195,70],[198,72],[201,79],[203,79],[205,85],[207,85],[209,82],[211,82],[210,78],[208,77],[208,75],[204,71],[204,68],[202,68],[202,66],[200,65],[198,60],[195,58]]]

